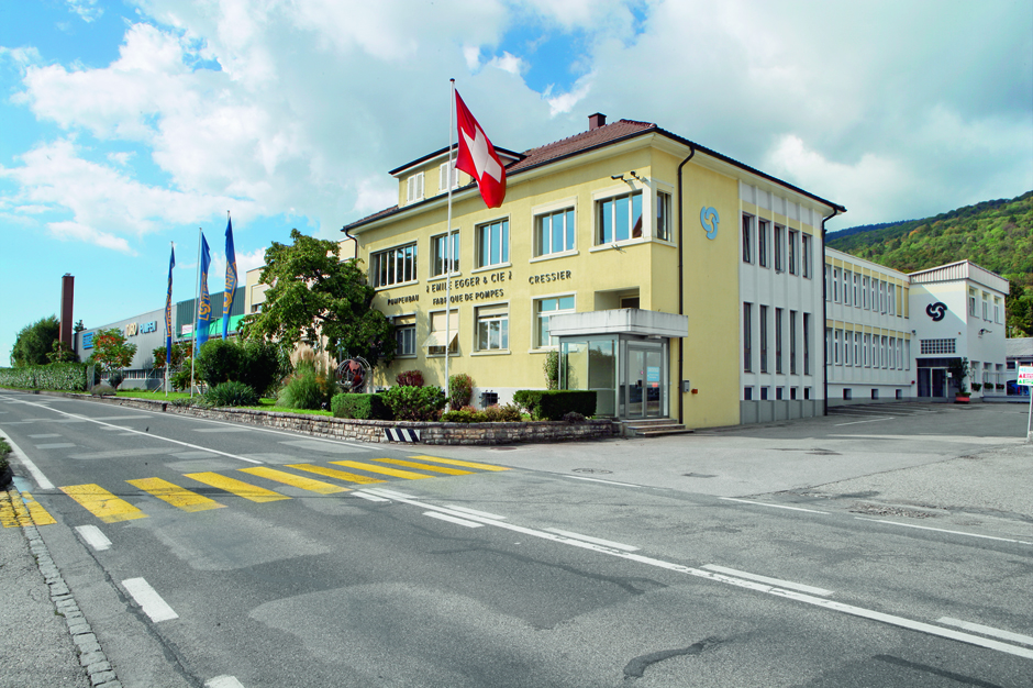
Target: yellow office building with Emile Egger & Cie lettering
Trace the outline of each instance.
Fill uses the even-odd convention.
[[[558,351],[560,387],[596,390],[601,414],[706,428],[822,413],[821,228],[845,209],[602,114],[499,149],[498,209],[448,174],[448,153],[391,170],[398,204],[343,230],[396,328],[378,387],[409,369],[444,386],[447,351],[475,404],[504,403],[545,388]]]

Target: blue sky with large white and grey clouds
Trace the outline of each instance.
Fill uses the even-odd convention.
[[[1029,0],[0,2],[0,365],[223,284],[292,228],[393,206],[449,141],[449,78],[524,151],[588,115],[663,129],[847,208],[831,231],[1033,189]]]

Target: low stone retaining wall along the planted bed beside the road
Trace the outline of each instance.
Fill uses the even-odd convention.
[[[131,409],[179,413],[244,423],[277,430],[290,430],[316,437],[351,440],[355,442],[387,442],[386,428],[408,428],[420,431],[421,444],[513,444],[518,442],[570,442],[598,440],[619,435],[613,421],[586,420],[582,423],[564,421],[526,421],[520,423],[421,423],[410,421],[363,421],[309,413],[281,413],[254,409],[201,409],[177,407],[167,401],[133,399],[129,397],[90,397],[68,392],[41,392],[62,397],[89,399]]]

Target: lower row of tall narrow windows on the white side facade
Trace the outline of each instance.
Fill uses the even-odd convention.
[[[774,311],[774,322],[771,314]],[[743,371],[754,371],[754,304],[743,303]],[[801,317],[802,315],[802,317]],[[797,375],[800,370],[797,363],[802,360],[803,375],[811,374],[811,314],[789,311],[788,320],[786,309],[768,306],[757,306],[757,323],[759,324],[759,349],[758,362],[760,373],[775,373],[784,375],[787,373],[785,363],[789,364],[789,375]],[[788,324],[789,329],[786,330]],[[803,339],[800,340],[798,333],[802,326]],[[771,331],[774,330],[774,348],[771,348]],[[798,342],[800,344],[798,345]],[[785,351],[788,344],[788,352]],[[788,356],[786,355],[788,353]],[[800,356],[802,354],[802,357]],[[774,370],[770,364],[774,363]]]

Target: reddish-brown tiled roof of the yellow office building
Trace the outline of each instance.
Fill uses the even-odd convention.
[[[744,165],[743,163],[740,163],[738,160],[730,158],[726,155],[722,155],[715,151],[711,151],[710,148],[696,144],[687,138],[682,138],[681,136],[678,136],[677,134],[673,134],[668,132],[667,130],[660,129],[658,125],[651,123],[651,122],[638,122],[635,120],[618,120],[617,122],[612,122],[610,124],[603,124],[601,126],[590,129],[587,132],[580,132],[573,136],[560,138],[559,141],[547,143],[536,148],[530,148],[522,154],[512,154],[512,152],[506,151],[504,148],[498,148],[498,149],[519,157],[519,159],[506,166],[506,176],[513,177],[521,173],[534,169],[536,167],[541,167],[542,165],[547,165],[556,160],[568,158],[575,155],[580,155],[589,151],[593,151],[596,148],[601,148],[603,146],[613,145],[620,141],[626,141],[635,136],[642,136],[645,134],[654,134],[654,133],[671,138],[673,141],[677,141],[678,143],[681,143],[682,145],[687,145],[695,151],[704,153],[706,155],[709,155],[713,158],[723,160],[730,165],[738,167],[740,169],[746,170],[752,175],[756,175],[758,177],[763,177],[765,179],[774,181],[775,184],[778,184],[781,187],[791,189],[802,196],[806,196],[810,199],[819,201],[820,203],[827,206],[830,208],[833,208],[837,210],[838,212],[846,212],[846,208],[844,208],[843,206],[840,206],[838,203],[833,203],[832,201],[827,201],[821,197],[814,196],[813,193],[809,191],[804,191],[803,189],[796,187],[791,184],[788,184],[786,181],[782,181],[781,179],[778,179],[777,177],[773,177],[771,175],[768,175],[767,173],[763,173],[759,169],[755,169],[753,167],[749,167],[748,165]],[[418,158],[416,160],[413,160],[412,163],[408,163],[407,165],[403,165],[401,167],[398,167],[391,170],[390,174],[395,175],[398,171],[403,170],[408,167],[411,167],[420,162],[424,162],[432,157],[441,155],[448,148],[442,148],[441,151],[423,156],[422,158]],[[467,185],[467,187],[471,187],[471,186],[474,186],[474,182],[470,182],[469,185]],[[464,187],[464,188],[467,188],[467,187]],[[371,215],[367,215],[363,218],[362,220],[356,220],[355,222],[344,225],[344,228],[342,228],[341,231],[347,234],[347,231],[353,228],[358,228],[364,224],[368,224],[369,222],[379,220],[381,218],[389,217],[391,214],[395,214],[401,211],[402,209],[415,208],[422,203],[426,203],[426,202],[434,201],[434,200],[440,200],[440,197],[433,196],[427,199],[424,199],[423,201],[409,203],[408,206],[402,206],[402,207],[392,206],[391,208],[385,208],[384,210],[376,212]]]

